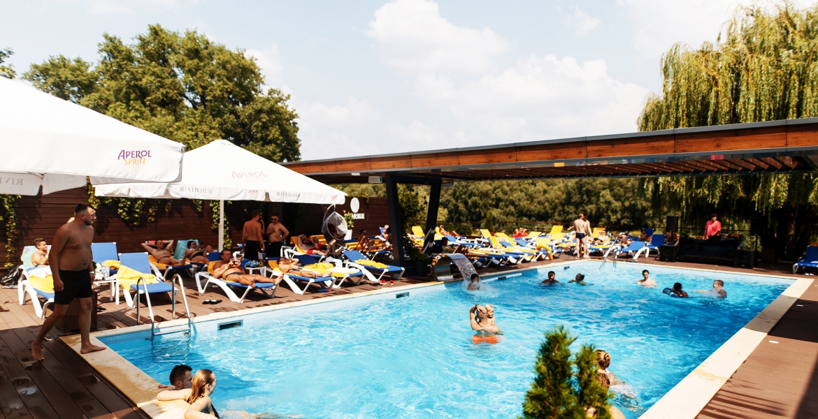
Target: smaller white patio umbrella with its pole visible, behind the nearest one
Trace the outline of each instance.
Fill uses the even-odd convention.
[[[224,244],[224,201],[344,203],[346,194],[253,154],[227,140],[185,153],[176,183],[97,185],[97,196],[219,201],[218,248]]]

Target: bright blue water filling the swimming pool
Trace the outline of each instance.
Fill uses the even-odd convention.
[[[612,357],[610,370],[627,386],[614,404],[638,417],[792,283],[749,275],[649,267],[659,288],[641,288],[644,266],[582,262],[552,268],[561,284],[541,285],[547,270],[244,317],[240,327],[199,323],[151,341],[103,338],[119,354],[166,383],[176,363],[212,369],[218,410],[304,417],[515,417],[533,379],[542,332],[564,324]],[[582,286],[567,283],[587,275]],[[725,281],[723,301],[688,292]],[[468,311],[496,307],[500,343],[470,341]]]

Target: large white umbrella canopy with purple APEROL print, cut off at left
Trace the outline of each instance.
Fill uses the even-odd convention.
[[[178,181],[185,146],[0,77],[0,194]]]

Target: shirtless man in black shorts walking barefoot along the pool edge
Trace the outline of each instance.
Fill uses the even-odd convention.
[[[74,221],[63,225],[54,234],[49,256],[54,278],[54,311],[31,344],[34,359],[43,359],[43,340],[56,322],[65,316],[65,310],[74,298],[79,301],[79,332],[82,341],[80,353],[88,354],[106,349],[104,346],[91,345],[91,338],[88,336],[91,331],[91,281],[94,272],[91,260],[94,228],[91,225],[95,218],[96,211],[87,203],[80,203],[74,208]]]

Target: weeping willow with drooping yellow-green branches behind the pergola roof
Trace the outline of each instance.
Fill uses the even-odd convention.
[[[676,44],[662,57],[661,95],[648,97],[640,131],[755,123],[818,116],[818,7],[784,4],[768,12],[739,8],[716,44]],[[671,205],[687,224],[712,211],[748,225],[766,216],[780,256],[792,259],[811,240],[818,176],[659,177],[645,180],[655,205]]]

